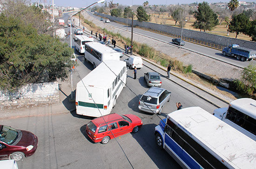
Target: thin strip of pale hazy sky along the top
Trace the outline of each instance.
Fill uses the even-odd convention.
[[[37,2],[37,0],[34,0]],[[46,2],[48,4],[52,4],[52,0],[39,0],[42,3]],[[97,2],[98,0],[54,0],[54,4],[56,6],[72,6],[72,7],[87,7],[94,2]],[[113,3],[119,3],[120,5],[142,5],[143,2],[147,0],[113,0]],[[230,0],[197,0],[198,3],[207,1],[208,3],[213,2],[229,2]],[[255,0],[244,0],[247,2],[254,2]],[[107,0],[107,2],[110,2],[110,0]],[[169,5],[169,4],[190,4],[196,2],[196,0],[148,0],[149,5]]]

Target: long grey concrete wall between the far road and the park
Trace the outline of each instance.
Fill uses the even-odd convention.
[[[126,24],[128,21],[128,25],[132,25],[131,19],[118,18],[118,17],[113,17],[111,15],[105,15],[105,14],[96,13],[96,12],[95,12],[95,14],[98,14],[102,17],[105,16],[106,18],[108,18],[112,21],[117,21],[117,22],[121,22],[124,24]],[[175,35],[181,35],[181,30],[182,30],[181,28],[178,28],[178,27],[154,24],[154,23],[149,23],[149,22],[139,22],[137,20],[134,20],[134,26],[151,28],[154,30],[164,31],[167,33],[175,34]],[[192,30],[188,30],[188,29],[183,29],[182,37],[193,38],[196,40],[201,40],[204,42],[218,44],[218,45],[222,45],[222,46],[227,46],[229,44],[239,44],[242,47],[256,50],[256,42],[246,41],[246,40],[241,40],[241,39],[236,39],[236,38],[229,38],[229,37],[224,37],[224,36],[220,36],[220,35],[214,35],[214,34],[210,34],[210,33],[200,32],[200,31],[192,31]]]

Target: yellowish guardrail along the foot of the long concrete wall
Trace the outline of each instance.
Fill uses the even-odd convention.
[[[168,36],[168,37],[181,38],[180,35],[175,35],[173,33],[168,33],[168,32],[165,32],[165,31],[159,31],[159,30],[155,30],[155,29],[151,29],[151,28],[145,28],[145,27],[142,27],[142,26],[135,26],[135,28],[139,28],[139,29],[142,29],[142,30],[145,30],[145,31],[151,31],[151,32],[154,32],[154,33],[158,33],[158,34]],[[218,45],[218,44],[212,44],[212,43],[209,43],[209,42],[196,40],[194,38],[187,38],[187,37],[182,36],[182,39],[185,40],[185,41],[188,41],[188,42],[192,42],[192,43],[195,43],[195,44],[201,44],[203,46],[207,46],[207,47],[217,49],[217,50],[222,50],[225,47],[225,46]]]

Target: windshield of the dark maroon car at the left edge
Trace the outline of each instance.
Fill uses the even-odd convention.
[[[19,133],[17,130],[3,125],[0,131],[0,140],[7,144],[13,144],[13,142],[18,138],[18,135]]]

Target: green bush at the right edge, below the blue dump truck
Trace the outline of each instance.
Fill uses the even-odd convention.
[[[236,89],[246,94],[253,94],[256,91],[256,66],[249,65],[244,68],[241,74],[241,80],[236,80]]]

